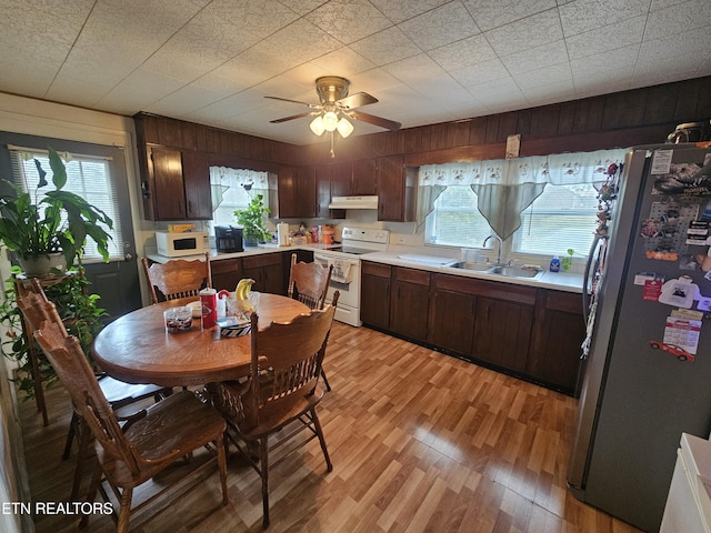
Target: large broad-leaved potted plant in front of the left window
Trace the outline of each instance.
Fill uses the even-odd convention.
[[[0,195],[0,241],[17,253],[28,275],[47,273],[57,265],[50,262],[50,258],[57,255],[63,257],[66,266],[72,266],[74,262],[81,265],[87,238],[97,243],[103,260],[109,260],[111,235],[106,229],[111,230],[113,221],[80,195],[62,190],[67,183],[67,169],[52,148],[49,149],[49,162],[54,190],[47,191],[43,198],[38,200],[39,189],[49,183],[47,172],[37,159],[34,164],[40,180],[34,198],[9,180],[4,181],[10,192]]]

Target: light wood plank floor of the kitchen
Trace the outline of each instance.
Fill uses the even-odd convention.
[[[574,399],[340,323],[324,366],[333,391],[320,416],[333,472],[317,441],[272,471],[269,531],[637,531],[565,489]],[[57,386],[48,398],[48,428],[33,402],[21,405],[36,502],[66,500],[74,464],[74,456],[60,459],[68,395]],[[229,483],[230,505],[220,505],[210,474],[134,531],[261,531],[259,477],[236,455]],[[36,524],[40,533],[61,533],[76,531],[77,519],[43,515]],[[87,531],[113,531],[113,522],[93,515]]]

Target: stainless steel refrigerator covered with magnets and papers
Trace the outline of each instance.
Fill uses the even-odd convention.
[[[599,279],[568,484],[649,532],[681,433],[711,430],[710,161],[689,144],[631,149],[589,262]]]

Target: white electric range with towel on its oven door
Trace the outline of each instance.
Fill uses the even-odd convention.
[[[333,265],[331,283],[327,295],[330,303],[333,292],[340,292],[336,320],[356,328],[362,325],[360,320],[360,255],[370,252],[382,252],[388,249],[390,231],[365,228],[343,228],[341,247],[319,250],[313,253],[313,261],[322,266]]]

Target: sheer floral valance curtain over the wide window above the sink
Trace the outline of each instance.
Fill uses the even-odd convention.
[[[503,240],[521,225],[521,213],[548,183],[603,183],[608,167],[624,160],[625,149],[533,155],[420,167],[417,225],[424,224],[434,201],[452,185],[469,185],[477,208]]]

